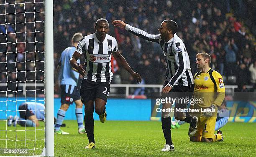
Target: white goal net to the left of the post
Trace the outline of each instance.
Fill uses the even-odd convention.
[[[45,147],[44,120],[28,121],[41,109],[20,107],[44,104],[44,55],[44,0],[0,0],[0,156]]]

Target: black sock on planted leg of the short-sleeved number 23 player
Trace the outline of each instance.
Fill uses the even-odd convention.
[[[93,120],[93,114],[84,114],[84,129],[86,131],[89,143],[95,143],[94,141],[94,133],[93,133],[93,127],[94,127],[94,120]]]

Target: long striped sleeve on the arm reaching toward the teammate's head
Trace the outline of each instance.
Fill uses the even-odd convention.
[[[151,41],[151,42],[159,43],[160,34],[158,34],[158,35],[149,34],[145,31],[140,30],[136,27],[133,27],[129,24],[126,24],[125,30],[128,30],[128,32],[131,32],[132,34],[134,34],[138,37],[141,37],[142,39],[145,39],[145,40],[148,40],[148,41]]]

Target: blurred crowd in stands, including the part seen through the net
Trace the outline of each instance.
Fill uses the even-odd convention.
[[[44,80],[43,0],[35,0],[34,5],[18,1],[0,0],[0,82],[40,82]],[[256,83],[255,6],[254,0],[54,0],[55,65],[74,33],[94,33],[96,20],[106,18],[109,34],[129,65],[141,73],[143,83],[162,84],[166,65],[161,47],[113,27],[111,21],[123,20],[157,34],[161,22],[172,19],[179,26],[177,35],[189,52],[193,73],[197,72],[195,55],[207,52],[211,67],[223,75],[225,84],[246,91],[245,85]],[[114,58],[112,66],[113,83],[135,83]]]

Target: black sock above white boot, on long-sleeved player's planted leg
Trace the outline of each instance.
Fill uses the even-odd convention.
[[[172,145],[172,135],[171,135],[171,117],[162,117],[162,130],[164,132],[164,138],[166,141],[166,144]]]

